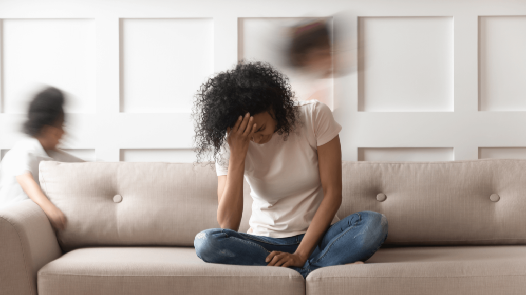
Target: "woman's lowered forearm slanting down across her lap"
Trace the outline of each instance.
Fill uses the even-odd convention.
[[[301,256],[305,260],[310,257],[312,251],[314,251],[316,245],[318,245],[323,236],[323,233],[329,228],[332,219],[340,208],[340,205],[341,194],[328,193],[323,197],[323,200],[307,229],[307,233],[305,233],[305,236],[301,240],[295,254]]]

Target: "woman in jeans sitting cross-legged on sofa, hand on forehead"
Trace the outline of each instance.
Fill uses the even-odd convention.
[[[231,265],[320,267],[363,263],[387,237],[385,216],[343,219],[341,126],[316,100],[295,101],[288,79],[269,64],[239,64],[196,94],[199,159],[214,153],[221,228],[197,234],[197,256]],[[226,135],[226,136],[225,136]],[[243,179],[254,199],[250,229],[239,233]]]

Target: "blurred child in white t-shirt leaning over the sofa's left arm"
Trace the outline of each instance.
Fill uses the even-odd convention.
[[[31,198],[57,229],[66,227],[66,218],[42,192],[38,164],[49,160],[84,162],[57,149],[64,135],[63,106],[62,91],[49,87],[37,93],[29,105],[24,124],[24,132],[29,137],[17,142],[0,163],[0,207]]]

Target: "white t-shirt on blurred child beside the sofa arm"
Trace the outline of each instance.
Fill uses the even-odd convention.
[[[40,142],[35,138],[18,141],[9,150],[0,163],[0,207],[24,201],[29,197],[16,181],[16,176],[31,172],[33,179],[38,181],[38,164],[41,161],[84,162],[64,151],[49,151],[46,153]]]

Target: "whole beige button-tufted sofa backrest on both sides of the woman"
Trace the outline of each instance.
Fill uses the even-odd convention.
[[[64,250],[192,246],[199,231],[219,227],[209,165],[42,162],[39,175],[68,218],[57,233]],[[342,177],[338,216],[385,214],[386,244],[526,244],[526,160],[343,162]],[[248,229],[249,192],[245,183],[240,231]]]

